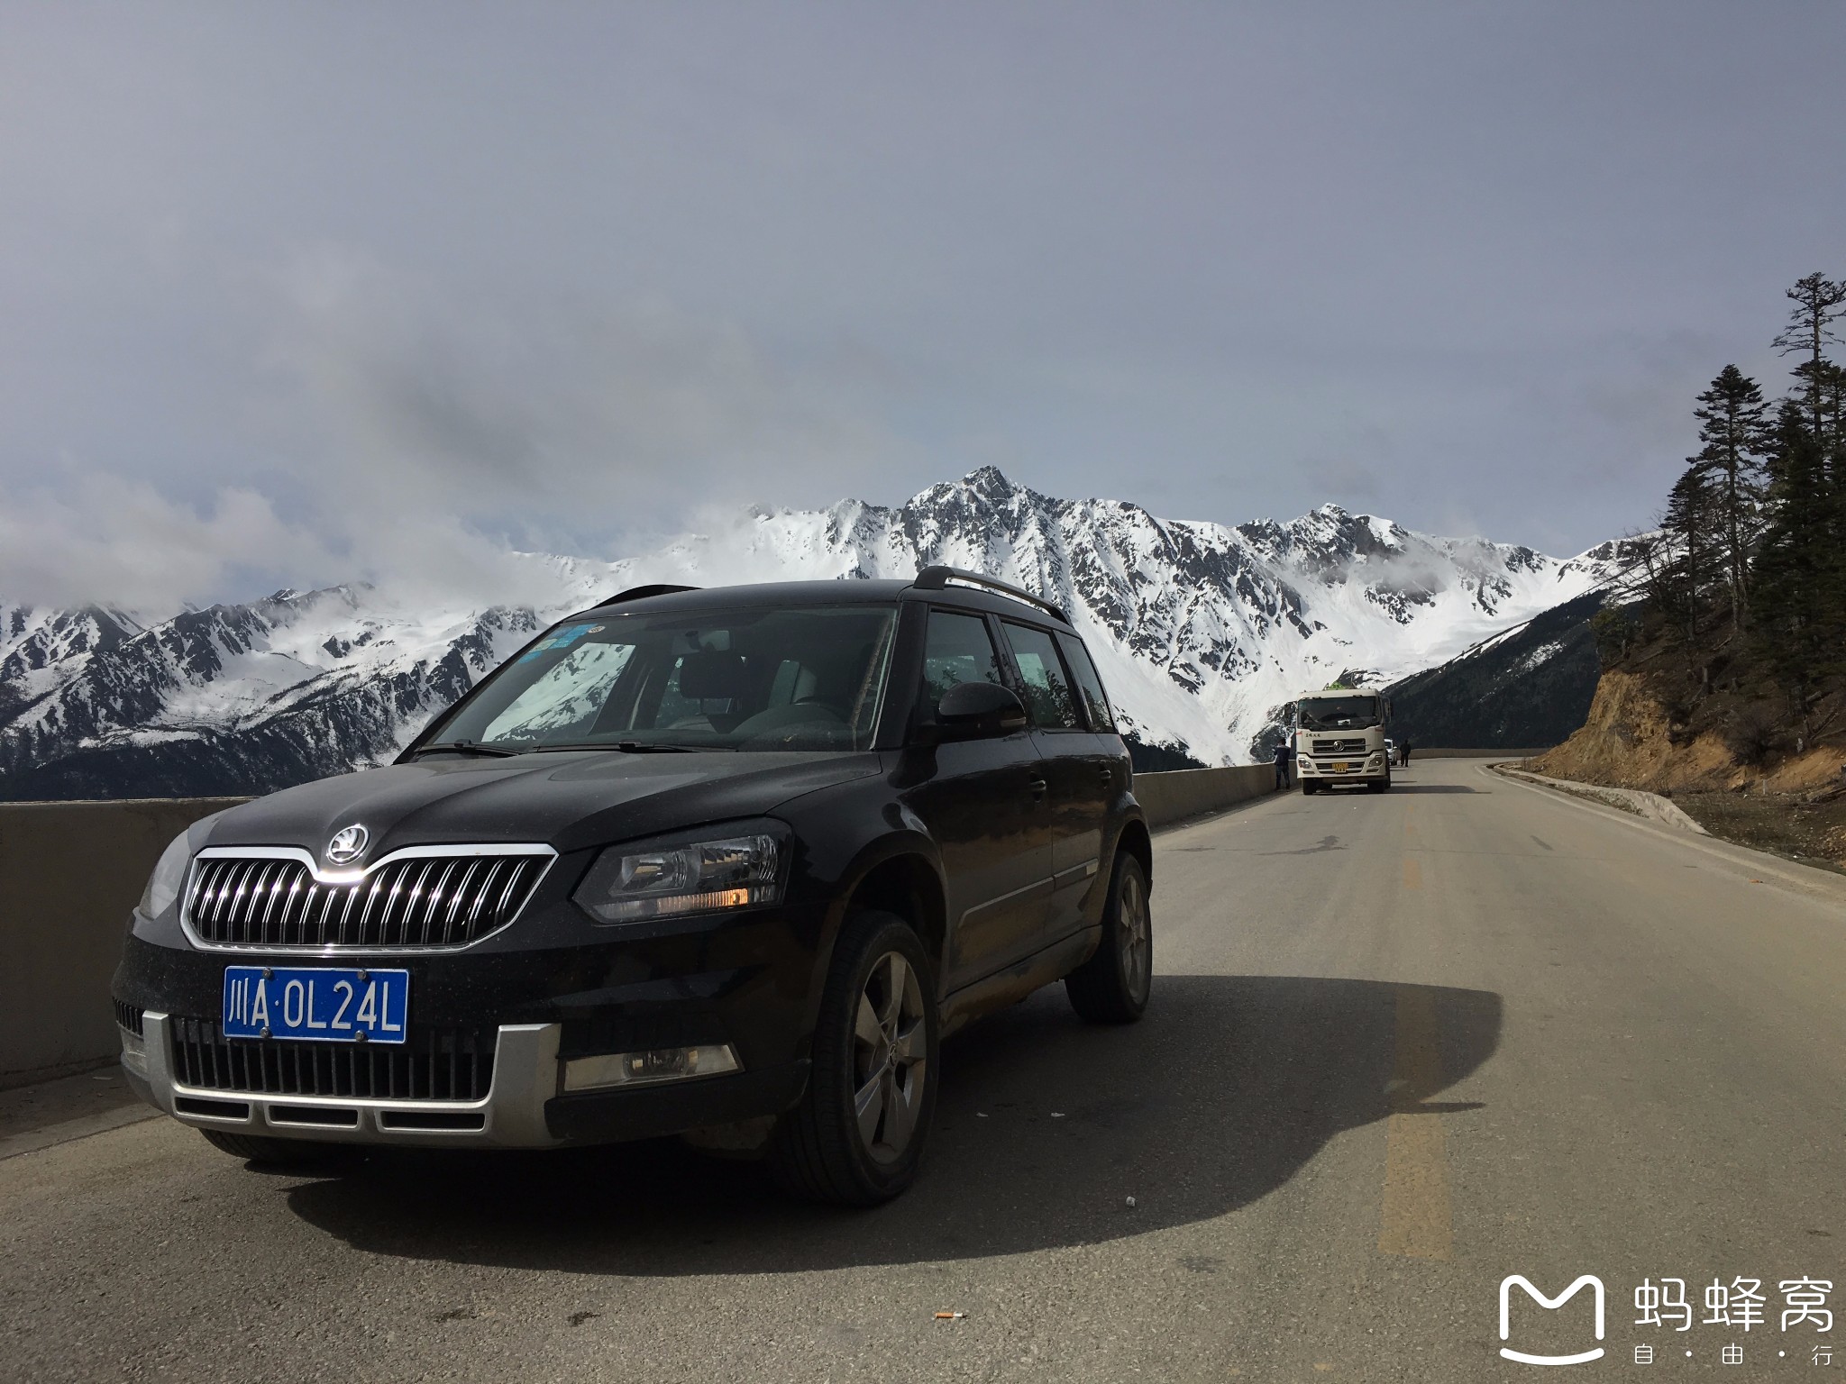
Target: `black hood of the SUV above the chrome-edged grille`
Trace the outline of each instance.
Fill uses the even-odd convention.
[[[611,751],[426,758],[284,788],[231,808],[203,845],[299,845],[321,856],[360,825],[362,860],[406,845],[546,843],[559,853],[773,812],[792,797],[879,773],[873,753]]]

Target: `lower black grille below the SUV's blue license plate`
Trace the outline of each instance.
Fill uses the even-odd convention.
[[[414,1028],[401,1044],[227,1039],[179,1017],[172,1035],[185,1087],[342,1100],[485,1100],[498,1041],[495,1028]]]

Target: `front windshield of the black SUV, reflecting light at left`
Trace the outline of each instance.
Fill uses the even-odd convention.
[[[552,627],[423,749],[864,749],[895,609],[605,614]]]

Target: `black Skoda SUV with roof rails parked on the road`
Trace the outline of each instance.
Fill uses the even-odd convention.
[[[683,1135],[866,1205],[916,1175],[945,1033],[1054,980],[1141,1015],[1150,878],[1058,607],[943,567],[641,587],[395,764],[175,840],[124,1067],[257,1161]]]

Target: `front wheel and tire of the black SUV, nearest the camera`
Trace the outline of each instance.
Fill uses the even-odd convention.
[[[770,1140],[770,1168],[796,1196],[875,1207],[916,1181],[936,1113],[934,967],[895,913],[847,919],[814,1024],[801,1104]]]

